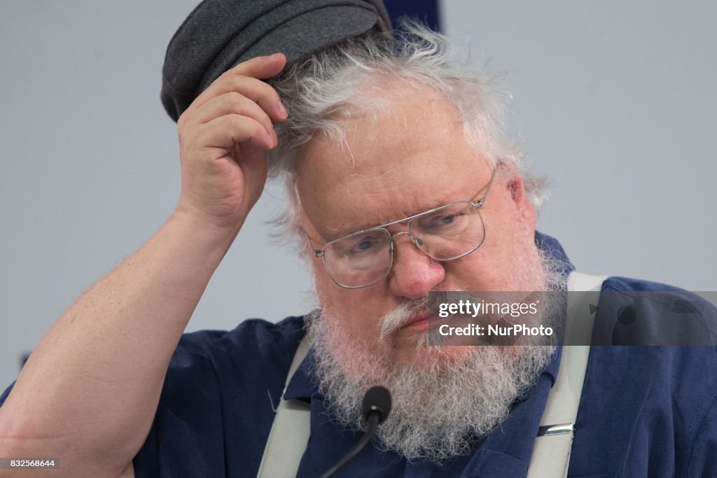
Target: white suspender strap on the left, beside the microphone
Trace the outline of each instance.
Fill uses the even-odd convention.
[[[306,451],[306,444],[308,444],[311,432],[310,406],[300,400],[284,400],[284,393],[308,351],[308,340],[304,338],[299,343],[294,360],[291,362],[257,477],[293,478],[299,469],[299,463]]]

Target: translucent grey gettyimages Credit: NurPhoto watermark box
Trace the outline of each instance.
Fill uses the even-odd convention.
[[[717,345],[716,303],[717,292],[430,292],[428,341]]]

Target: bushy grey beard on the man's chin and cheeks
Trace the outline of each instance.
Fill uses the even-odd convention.
[[[564,264],[544,254],[541,263],[544,290],[564,287]],[[549,296],[555,302],[549,310],[562,310],[563,295]],[[425,302],[407,302],[402,307],[399,314],[411,313],[425,307]],[[542,322],[559,328],[561,320],[561,313],[554,313],[543,317]],[[330,330],[320,311],[308,317],[307,328],[315,354],[315,380],[331,419],[351,429],[364,429],[364,393],[374,385],[386,386],[391,391],[391,415],[376,435],[384,449],[396,451],[411,462],[441,463],[469,453],[475,440],[490,434],[508,417],[512,404],[536,383],[556,351],[549,345],[526,346],[516,356],[505,353],[508,348],[469,346],[467,355],[450,360],[442,347],[427,345],[424,338],[417,343],[417,353],[429,360],[416,366],[390,363],[347,340],[350,338],[342,336],[338,328]],[[340,363],[331,343],[350,348],[341,355],[351,357],[351,363]]]

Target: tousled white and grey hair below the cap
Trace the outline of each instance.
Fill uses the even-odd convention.
[[[318,136],[343,144],[346,118],[384,113],[386,98],[379,92],[386,80],[433,90],[455,107],[470,145],[493,166],[503,163],[521,171],[526,194],[539,212],[546,180],[523,171],[525,154],[511,138],[505,115],[511,96],[498,87],[502,75],[473,70],[468,60],[444,35],[404,20],[392,38],[369,32],[296,62],[272,79],[289,111],[285,123],[275,127],[279,145],[269,154],[270,175],[285,175],[290,200],[277,223],[297,226],[295,165],[301,146]]]

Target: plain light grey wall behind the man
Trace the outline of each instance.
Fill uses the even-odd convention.
[[[197,0],[0,6],[0,388],[82,290],[176,205],[168,39]],[[584,272],[717,290],[716,7],[709,2],[446,2],[448,34],[507,70],[516,125],[552,179],[538,222]],[[278,190],[277,188],[274,188]],[[270,244],[265,194],[189,330],[314,307]]]

